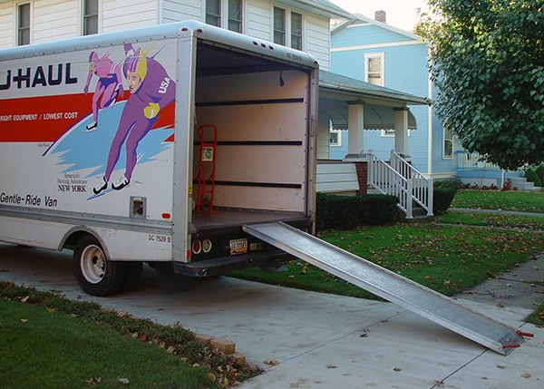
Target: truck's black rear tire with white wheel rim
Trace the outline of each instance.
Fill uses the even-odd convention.
[[[92,296],[117,293],[127,276],[126,264],[106,258],[100,242],[90,235],[75,245],[73,270],[79,286]]]

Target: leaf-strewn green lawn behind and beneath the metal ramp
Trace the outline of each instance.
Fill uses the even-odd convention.
[[[541,231],[461,225],[399,223],[333,231],[319,238],[448,296],[474,287],[544,251]],[[287,264],[286,272],[247,269],[230,275],[338,295],[372,296],[298,259]]]

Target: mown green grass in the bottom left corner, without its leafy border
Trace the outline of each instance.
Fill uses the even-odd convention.
[[[0,317],[3,388],[214,387],[205,369],[108,326],[6,299]]]

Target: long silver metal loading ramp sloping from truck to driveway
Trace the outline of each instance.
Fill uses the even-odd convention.
[[[252,224],[245,225],[243,229],[296,258],[403,306],[501,355],[507,355],[513,348],[519,347],[524,340],[523,336],[530,336],[285,223]]]

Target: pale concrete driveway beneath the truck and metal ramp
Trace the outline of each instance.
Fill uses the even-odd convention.
[[[400,306],[273,287],[228,277],[165,296],[147,268],[141,287],[115,297],[84,295],[72,253],[0,244],[0,279],[56,290],[195,333],[225,337],[266,372],[238,387],[517,388],[544,385],[544,329],[523,323],[528,307],[464,300],[535,334],[498,355]]]

